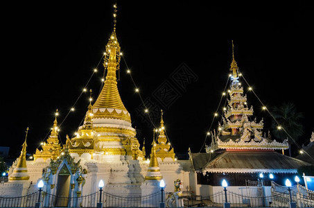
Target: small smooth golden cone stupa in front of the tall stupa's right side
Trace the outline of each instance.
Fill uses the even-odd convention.
[[[150,153],[150,164],[145,176],[145,180],[162,180],[162,173],[160,173],[157,155],[156,155],[156,143],[152,141],[152,153]]]

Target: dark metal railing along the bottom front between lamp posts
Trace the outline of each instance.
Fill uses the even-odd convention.
[[[275,185],[274,185],[275,186]],[[272,189],[271,196],[245,196],[243,194],[227,191],[227,202],[231,207],[288,207],[290,198],[284,187]],[[276,191],[277,190],[277,191]],[[297,207],[314,207],[313,191],[303,190],[293,192],[293,201]],[[161,191],[146,196],[130,196],[131,193],[103,192],[101,202],[103,207],[159,207]],[[41,207],[97,207],[99,191],[80,197],[54,196],[42,193]],[[0,197],[0,207],[35,207],[39,192],[21,197]],[[180,196],[184,207],[223,207],[225,192],[218,191],[210,196],[195,196],[193,193]]]

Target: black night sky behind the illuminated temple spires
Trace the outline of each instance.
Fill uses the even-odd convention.
[[[28,152],[33,153],[46,139],[55,110],[59,109],[62,121],[75,103],[112,33],[113,3],[6,6],[6,15],[1,15],[0,146],[10,146],[13,157],[19,155],[27,127]],[[299,144],[306,144],[314,131],[313,14],[311,6],[298,3],[118,1],[116,33],[143,101],[155,110],[164,109],[175,152],[200,150],[227,81],[232,40],[238,67],[263,103],[272,107],[292,102],[304,113]],[[94,99],[101,87],[101,66],[87,86]],[[189,79],[177,83],[182,70]],[[146,137],[148,149],[152,126],[139,113],[141,100],[125,71],[121,60],[121,98],[140,143]],[[258,121],[263,117],[268,131],[270,116],[261,111],[254,94],[247,90],[245,94],[254,116]],[[80,97],[76,111],[60,127],[62,142],[80,125],[88,98],[88,93]],[[159,123],[154,118],[157,112],[151,115]],[[218,119],[213,127],[217,124]]]

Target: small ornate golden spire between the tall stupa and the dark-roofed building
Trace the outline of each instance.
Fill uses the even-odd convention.
[[[160,121],[160,128],[157,130],[159,132],[156,144],[156,156],[160,157],[162,161],[166,157],[170,157],[175,161],[175,153],[174,149],[171,147],[170,141],[168,141],[165,135],[165,127],[164,127],[164,119],[162,118],[163,112],[161,110],[161,121]]]

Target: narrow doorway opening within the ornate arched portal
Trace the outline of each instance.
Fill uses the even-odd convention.
[[[57,198],[55,199],[55,207],[67,207],[69,202],[71,173],[64,164],[58,174]]]

